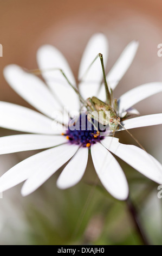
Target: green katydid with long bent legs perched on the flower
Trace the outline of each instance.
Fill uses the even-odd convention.
[[[105,75],[105,68],[104,68],[104,64],[103,64],[103,56],[102,56],[101,53],[99,53],[95,57],[95,59],[89,65],[89,67],[88,67],[87,71],[85,72],[85,75],[83,75],[83,77],[86,76],[88,70],[90,69],[90,67],[93,65],[93,63],[95,62],[95,60],[97,58],[100,58],[100,61],[101,61],[102,73],[103,73],[103,82],[104,82],[105,92],[106,92],[106,102],[101,101],[100,99],[98,99],[95,96],[89,97],[88,99],[84,100],[83,97],[81,96],[81,94],[79,93],[79,90],[77,90],[73,86],[73,84],[70,83],[70,81],[68,80],[68,77],[66,76],[66,74],[64,74],[64,71],[62,69],[59,69],[59,68],[46,69],[46,70],[35,69],[35,70],[30,70],[30,72],[35,74],[35,75],[40,75],[42,72],[59,70],[62,73],[62,75],[64,76],[64,78],[67,80],[69,86],[72,87],[75,90],[76,94],[79,96],[79,99],[82,103],[82,106],[85,106],[87,108],[87,119],[90,123],[93,124],[93,126],[96,129],[96,133],[94,134],[94,137],[99,136],[100,132],[99,132],[98,128],[95,126],[93,120],[96,120],[96,121],[98,121],[99,123],[101,123],[102,125],[105,125],[105,126],[109,125],[109,129],[113,133],[113,136],[114,136],[114,133],[118,129],[118,126],[121,125],[120,117],[118,117],[118,115],[117,115],[118,102],[117,102],[117,99],[113,99],[112,89],[109,88],[109,86],[107,84],[106,75]],[[94,114],[95,112],[97,114]],[[101,113],[101,115],[99,115],[99,112]],[[124,119],[127,119],[127,116],[125,116]],[[124,126],[122,126],[122,127],[125,129]],[[127,132],[129,133],[129,135],[131,135],[131,137],[133,137],[133,135],[129,131],[127,131]],[[134,138],[134,140],[140,145],[140,147],[142,149],[144,149],[141,146],[141,144],[137,141],[137,139]]]

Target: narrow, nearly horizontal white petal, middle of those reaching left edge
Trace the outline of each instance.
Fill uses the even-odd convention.
[[[0,138],[0,154],[51,148],[66,143],[64,136],[55,135],[11,135]]]

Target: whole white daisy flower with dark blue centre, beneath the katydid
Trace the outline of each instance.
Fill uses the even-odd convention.
[[[137,41],[130,42],[109,71],[106,78],[112,89],[117,86],[129,68],[137,48]],[[95,34],[88,42],[79,68],[79,90],[85,100],[88,97],[97,96],[100,100],[105,101],[105,89],[103,85],[100,87],[103,80],[100,59],[93,63],[82,79],[88,66],[100,52],[103,54],[106,64],[107,39],[103,34]],[[71,187],[77,184],[85,173],[89,149],[100,181],[106,190],[117,199],[127,199],[128,184],[123,170],[111,153],[148,178],[162,184],[161,164],[146,151],[134,145],[121,144],[119,139],[111,136],[96,136],[94,127],[92,130],[88,130],[86,126],[86,130],[72,131],[65,130],[60,125],[57,126],[57,130],[54,129],[53,119],[56,110],[62,112],[62,107],[65,106],[69,111],[80,111],[78,95],[69,86],[61,72],[54,71],[54,69],[61,68],[69,82],[75,88],[77,86],[66,59],[55,47],[42,46],[38,50],[37,59],[41,70],[51,69],[49,72],[42,73],[48,87],[40,78],[30,72],[25,72],[17,65],[9,65],[4,69],[5,79],[10,86],[41,113],[1,101],[0,126],[33,134],[1,137],[0,154],[36,149],[46,150],[25,159],[4,173],[0,178],[0,192],[25,181],[22,195],[27,196],[40,187],[68,160],[70,161],[57,180],[57,186],[62,189]],[[128,115],[138,114],[138,111],[133,108],[135,103],[161,91],[162,83],[154,82],[143,84],[121,95],[118,100],[118,117],[121,118],[121,124],[126,129],[162,124],[162,114],[124,120]],[[119,127],[118,131],[122,129]]]

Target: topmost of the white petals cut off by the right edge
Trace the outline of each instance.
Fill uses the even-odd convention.
[[[160,82],[142,84],[141,86],[129,90],[125,94],[121,95],[118,100],[119,113],[124,112],[139,101],[159,92],[162,92],[162,83]]]

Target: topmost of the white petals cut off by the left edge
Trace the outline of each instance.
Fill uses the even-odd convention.
[[[31,133],[60,134],[62,125],[29,108],[0,101],[0,127]]]

